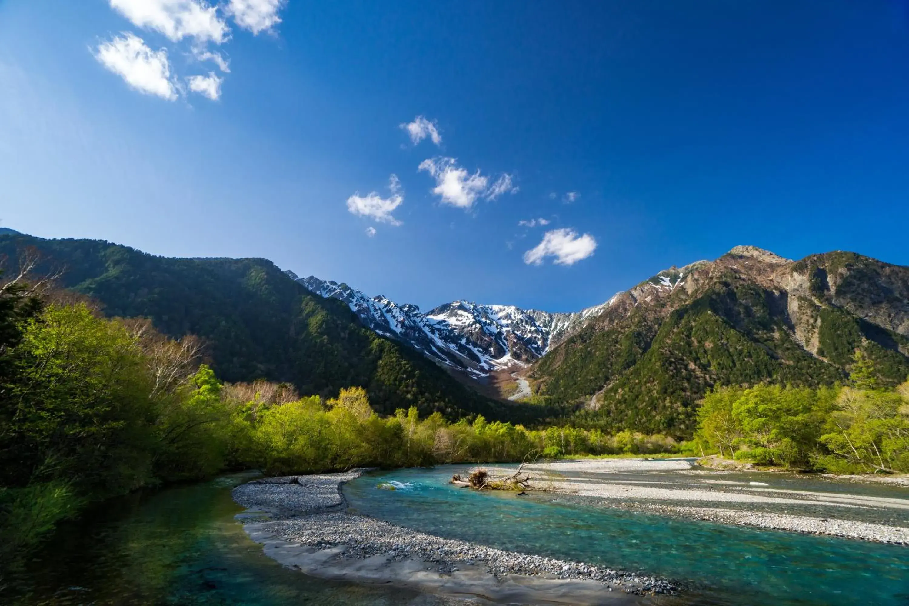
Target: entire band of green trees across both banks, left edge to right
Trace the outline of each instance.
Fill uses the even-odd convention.
[[[717,388],[694,439],[376,412],[362,386],[301,396],[224,382],[195,336],[110,318],[91,300],[8,276],[0,286],[0,561],[91,504],[232,469],[266,473],[515,462],[578,454],[721,455],[830,472],[909,471],[909,383],[856,350],[851,384]]]

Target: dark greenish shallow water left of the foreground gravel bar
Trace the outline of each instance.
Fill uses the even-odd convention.
[[[283,568],[234,520],[230,489],[251,476],[105,503],[34,558],[0,571],[4,604],[447,603],[393,588],[321,581]]]

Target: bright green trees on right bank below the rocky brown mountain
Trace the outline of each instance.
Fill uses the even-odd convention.
[[[876,375],[856,352],[848,386],[717,388],[698,410],[695,441],[736,462],[836,474],[909,472],[909,382],[881,389]]]

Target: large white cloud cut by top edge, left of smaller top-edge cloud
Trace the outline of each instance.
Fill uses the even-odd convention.
[[[136,27],[153,29],[174,42],[191,37],[220,45],[230,35],[217,8],[205,0],[110,0],[110,5]]]

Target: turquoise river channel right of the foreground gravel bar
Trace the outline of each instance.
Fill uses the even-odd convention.
[[[353,512],[419,531],[694,581],[693,603],[909,603],[905,546],[687,522],[609,509],[576,497],[517,497],[448,483],[453,472],[463,471],[463,466],[454,466],[367,474],[346,484],[344,492]],[[660,481],[673,478],[664,474]],[[679,482],[690,481],[680,476]],[[383,482],[411,486],[390,491],[378,488]],[[801,483],[786,482],[792,488]],[[869,494],[893,493],[869,488]],[[844,490],[863,489],[853,485]]]

